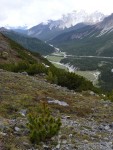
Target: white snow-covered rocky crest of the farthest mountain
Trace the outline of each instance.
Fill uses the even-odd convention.
[[[50,30],[53,28],[69,28],[78,23],[85,22],[87,24],[95,24],[102,21],[105,18],[104,14],[96,11],[92,14],[86,13],[84,10],[73,11],[72,13],[64,14],[59,20],[49,20],[48,25]],[[46,22],[47,23],[47,22]]]

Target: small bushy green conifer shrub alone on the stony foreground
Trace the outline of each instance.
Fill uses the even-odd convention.
[[[58,134],[61,127],[60,118],[54,118],[45,103],[39,106],[38,113],[28,115],[28,121],[30,141],[35,144],[51,139]]]

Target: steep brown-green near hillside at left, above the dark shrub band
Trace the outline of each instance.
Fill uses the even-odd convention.
[[[40,54],[26,50],[0,33],[0,64],[16,64],[20,61],[50,64]]]

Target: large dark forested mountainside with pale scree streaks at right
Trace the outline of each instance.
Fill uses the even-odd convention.
[[[96,25],[60,34],[51,43],[69,54],[113,56],[113,14]]]

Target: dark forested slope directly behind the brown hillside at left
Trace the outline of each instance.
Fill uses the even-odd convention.
[[[7,37],[11,38],[12,40],[16,41],[17,43],[21,44],[26,49],[29,49],[33,52],[38,52],[41,55],[47,55],[54,52],[54,48],[43,41],[37,38],[31,38],[27,35],[17,33],[10,30],[1,30],[1,32],[6,35]]]

